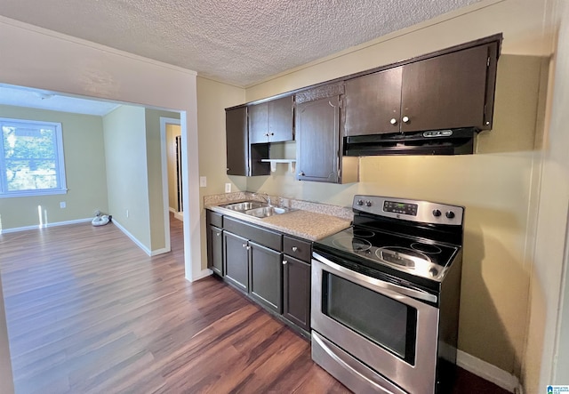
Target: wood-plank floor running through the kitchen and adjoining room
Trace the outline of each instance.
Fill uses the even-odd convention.
[[[0,235],[17,393],[349,392],[293,330],[215,277],[184,278],[113,224]],[[461,370],[455,393],[506,393]]]

